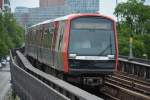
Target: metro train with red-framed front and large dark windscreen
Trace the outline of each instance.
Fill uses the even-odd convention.
[[[45,72],[85,85],[102,84],[117,70],[116,22],[101,14],[46,20],[28,28],[25,55],[44,65]]]

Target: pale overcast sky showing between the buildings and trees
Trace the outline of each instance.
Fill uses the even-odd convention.
[[[118,2],[126,2],[126,1],[127,0],[118,0]],[[23,6],[29,8],[39,6],[39,0],[10,0],[10,2],[11,2],[12,11],[14,11],[14,9],[17,6]],[[150,5],[150,0],[146,0],[146,2],[147,4]],[[116,0],[100,0],[100,13],[115,18],[115,16],[113,15],[115,6],[116,6]]]

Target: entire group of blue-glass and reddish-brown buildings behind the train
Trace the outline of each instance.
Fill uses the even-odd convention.
[[[21,26],[31,26],[71,13],[97,11],[99,11],[99,0],[40,0],[39,8],[16,8],[15,17]]]

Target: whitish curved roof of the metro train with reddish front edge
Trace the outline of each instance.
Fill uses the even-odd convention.
[[[35,27],[35,26],[39,26],[39,25],[43,25],[43,24],[47,24],[47,23],[54,22],[54,21],[67,20],[69,18],[75,18],[75,17],[79,17],[79,16],[101,16],[101,17],[106,17],[106,18],[108,18],[110,20],[113,20],[112,18],[107,17],[107,16],[103,16],[103,15],[101,15],[99,13],[94,13],[94,14],[91,14],[91,13],[90,14],[88,14],[88,13],[87,14],[86,13],[84,13],[84,14],[78,13],[78,14],[70,14],[70,15],[66,15],[66,16],[63,16],[63,17],[58,17],[58,18],[55,18],[55,19],[46,20],[46,21],[37,23],[35,25],[32,25],[29,28],[32,28],[32,27]]]

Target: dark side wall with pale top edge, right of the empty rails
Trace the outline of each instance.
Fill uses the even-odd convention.
[[[137,58],[133,60],[119,58],[119,68],[123,73],[150,81],[150,64],[148,62],[146,63],[144,60],[137,60]]]

